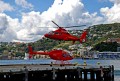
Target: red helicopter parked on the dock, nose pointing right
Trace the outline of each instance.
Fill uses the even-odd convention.
[[[32,47],[29,45],[29,58],[31,58],[33,55],[40,54],[40,55],[49,55],[49,57],[53,60],[59,60],[62,64],[64,64],[64,61],[72,60],[73,56],[72,53],[66,50],[62,49],[55,49],[51,50],[49,52],[40,52],[40,51],[33,51]],[[56,61],[57,62],[57,61]],[[68,62],[69,63],[69,62]]]

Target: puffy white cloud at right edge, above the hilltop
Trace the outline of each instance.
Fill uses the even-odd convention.
[[[101,8],[101,14],[106,19],[106,23],[120,22],[120,0],[110,0],[114,3],[111,8]]]

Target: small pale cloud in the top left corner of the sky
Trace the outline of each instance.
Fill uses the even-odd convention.
[[[4,3],[2,0],[0,0],[0,13],[4,11],[12,11],[14,8],[10,6],[8,3]]]

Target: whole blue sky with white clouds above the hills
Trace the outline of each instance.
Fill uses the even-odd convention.
[[[120,23],[119,14],[120,0],[0,0],[0,42],[37,41],[55,30],[51,21],[86,27]]]

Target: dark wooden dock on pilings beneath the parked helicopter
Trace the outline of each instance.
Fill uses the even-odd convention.
[[[114,81],[114,66],[80,64],[0,65],[0,81]]]

